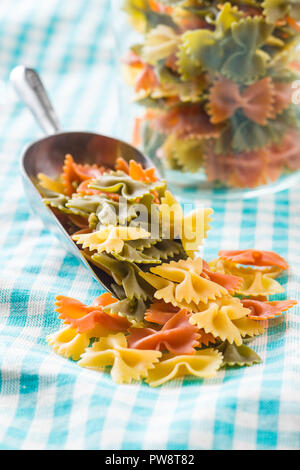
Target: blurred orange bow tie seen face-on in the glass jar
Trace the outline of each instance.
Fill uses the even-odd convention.
[[[227,78],[214,83],[210,90],[208,110],[211,122],[218,124],[230,118],[238,108],[252,121],[264,126],[273,112],[273,85],[270,77],[248,86],[242,93]]]

